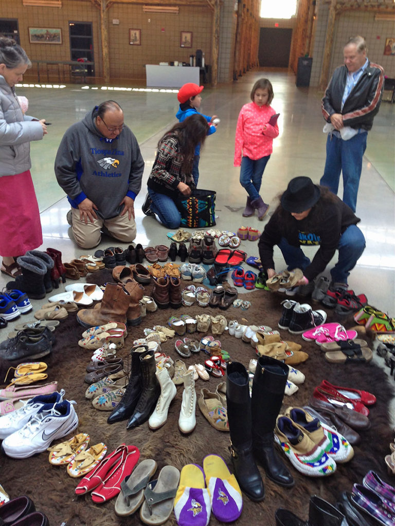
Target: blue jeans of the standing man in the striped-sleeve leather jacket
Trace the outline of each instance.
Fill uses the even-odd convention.
[[[343,140],[328,134],[327,160],[320,185],[327,186],[333,194],[338,193],[340,172],[343,172],[343,202],[353,212],[357,207],[359,179],[362,171],[362,157],[366,150],[368,134],[354,135]]]

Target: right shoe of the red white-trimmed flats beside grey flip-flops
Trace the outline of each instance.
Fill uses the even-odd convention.
[[[102,504],[116,497],[121,491],[121,482],[129,476],[140,458],[140,451],[136,446],[124,446],[121,458],[114,465],[111,473],[92,492],[92,500],[96,504]]]

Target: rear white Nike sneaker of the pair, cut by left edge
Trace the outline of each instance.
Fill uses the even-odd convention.
[[[7,413],[0,417],[0,439],[8,437],[23,428],[25,424],[36,414],[40,409],[48,404],[50,408],[63,401],[65,391],[62,389],[60,393],[53,392],[50,395],[38,395],[29,400],[26,400],[25,405],[16,411]]]

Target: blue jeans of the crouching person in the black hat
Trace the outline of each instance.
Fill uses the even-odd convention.
[[[303,254],[302,249],[290,245],[284,237],[279,243],[279,248],[285,263],[288,265],[288,270],[300,268],[304,271],[310,265],[310,259]],[[357,225],[347,227],[339,239],[339,260],[331,269],[331,277],[334,283],[347,283],[350,270],[356,266],[364,248],[365,238]]]

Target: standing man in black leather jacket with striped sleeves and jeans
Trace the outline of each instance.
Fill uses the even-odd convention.
[[[342,171],[343,201],[353,211],[368,131],[379,111],[384,84],[383,68],[370,63],[367,52],[364,38],[349,39],[343,50],[344,66],[335,69],[322,99],[322,114],[330,124],[320,185],[337,194]]]

